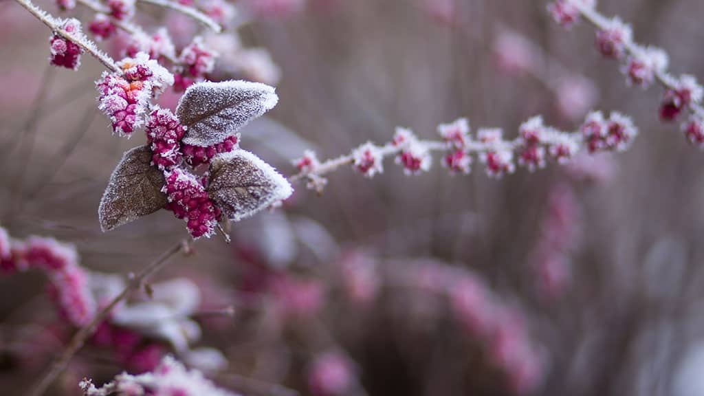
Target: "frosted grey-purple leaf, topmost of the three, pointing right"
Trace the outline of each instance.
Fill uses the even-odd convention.
[[[183,141],[208,147],[234,135],[249,121],[272,109],[279,97],[259,82],[199,82],[183,94],[176,108],[187,126]]]

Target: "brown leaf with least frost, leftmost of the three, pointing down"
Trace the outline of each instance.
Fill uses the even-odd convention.
[[[98,215],[103,231],[152,214],[166,204],[161,192],[164,176],[151,166],[151,149],[140,146],[126,151],[110,176],[100,200]]]

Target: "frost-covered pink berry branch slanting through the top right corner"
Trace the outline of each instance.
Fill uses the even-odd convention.
[[[646,88],[657,82],[665,88],[660,118],[672,121],[683,112],[689,113],[689,119],[681,128],[690,142],[704,146],[704,89],[696,78],[670,74],[664,50],[636,43],[630,25],[618,17],[603,16],[596,10],[595,3],[594,0],[557,0],[548,4],[548,12],[564,27],[572,27],[580,18],[596,27],[598,51],[605,58],[621,63],[629,85]]]

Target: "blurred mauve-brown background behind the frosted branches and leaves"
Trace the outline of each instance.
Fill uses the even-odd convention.
[[[397,125],[435,139],[460,117],[514,137],[536,114],[574,130],[592,109],[621,111],[640,135],[624,153],[500,180],[479,163],[406,176],[389,160],[371,180],[340,169],[321,195],[294,186],[281,210],[234,223],[231,244],[199,240],[156,276],[197,285],[202,334],[189,341],[227,360],[210,378],[244,395],[704,395],[704,156],[658,119],[659,87],[627,87],[593,29],[555,25],[546,1],[299,3],[230,31],[268,51],[274,69],[258,79],[279,94],[241,147],[284,175],[307,148],[332,158]],[[674,73],[704,76],[700,1],[599,7],[667,49]],[[197,28],[155,8],[139,18],[177,43]],[[117,275],[187,237],[165,211],[101,233],[109,175],[144,136],[111,135],[99,63],[53,68],[41,23],[8,0],[0,20],[0,225],[69,242],[82,266]],[[225,57],[237,42],[220,44]],[[0,279],[3,394],[26,389],[70,335],[43,287],[39,273]],[[89,345],[51,394],[125,369],[139,371]]]

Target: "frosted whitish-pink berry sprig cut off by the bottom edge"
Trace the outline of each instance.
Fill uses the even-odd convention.
[[[84,396],[108,396],[129,390],[130,395],[235,396],[215,388],[197,370],[187,370],[173,357],[165,357],[152,373],[132,376],[122,373],[110,383],[96,388],[90,380],[79,384]]]

